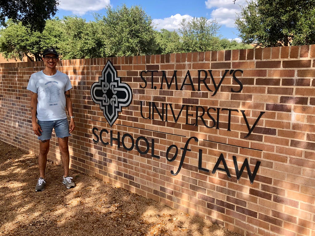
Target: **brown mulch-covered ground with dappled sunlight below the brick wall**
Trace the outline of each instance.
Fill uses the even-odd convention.
[[[61,183],[62,167],[46,168],[35,192],[37,157],[0,141],[0,235],[241,236],[210,221],[71,170],[76,188]]]

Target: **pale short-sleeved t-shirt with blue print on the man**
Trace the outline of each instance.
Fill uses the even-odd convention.
[[[26,89],[37,93],[37,120],[67,118],[65,92],[71,88],[69,77],[59,70],[53,76],[45,75],[43,70],[32,74]]]

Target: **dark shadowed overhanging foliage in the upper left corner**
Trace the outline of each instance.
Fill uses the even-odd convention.
[[[0,25],[6,26],[9,18],[41,32],[45,21],[55,15],[58,4],[59,0],[0,0]]]

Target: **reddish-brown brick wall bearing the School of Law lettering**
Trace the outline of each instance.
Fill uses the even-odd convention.
[[[243,235],[315,236],[314,59],[315,45],[62,60],[71,168]],[[90,92],[108,60],[133,96],[112,127]],[[35,155],[26,86],[42,69],[0,64],[0,139]]]

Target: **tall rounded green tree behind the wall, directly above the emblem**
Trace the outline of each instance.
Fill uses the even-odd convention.
[[[152,19],[140,6],[107,7],[103,17],[107,56],[148,55],[156,51]]]

